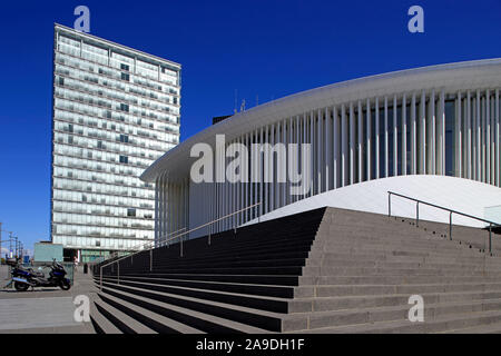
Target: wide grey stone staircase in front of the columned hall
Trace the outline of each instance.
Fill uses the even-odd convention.
[[[495,333],[487,233],[318,209],[145,251],[104,270],[98,333]],[[494,235],[494,246],[497,244]],[[150,270],[151,269],[151,270]],[[98,283],[98,268],[95,269]],[[411,295],[424,323],[411,323]]]

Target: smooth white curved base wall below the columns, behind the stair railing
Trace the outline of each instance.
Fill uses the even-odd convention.
[[[470,179],[429,175],[382,178],[337,188],[263,215],[261,221],[323,207],[387,214],[389,190],[501,224],[500,188]],[[392,197],[393,216],[415,218],[415,207],[414,201]],[[449,224],[449,212],[420,205],[420,219]],[[257,219],[246,225],[255,222]],[[453,224],[471,227],[487,225],[459,215],[453,215]]]

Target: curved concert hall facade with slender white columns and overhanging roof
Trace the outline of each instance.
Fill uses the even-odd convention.
[[[491,59],[350,80],[238,112],[167,152],[141,176],[156,182],[156,237],[262,202],[258,211],[213,228],[225,230],[386,177],[452,176],[500,187],[500,89],[501,59]],[[214,146],[216,135],[225,135],[227,146],[311,144],[312,189],[293,196],[291,182],[194,184],[190,148]],[[275,158],[262,165],[276,167]]]

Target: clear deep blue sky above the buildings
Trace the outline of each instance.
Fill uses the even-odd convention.
[[[232,113],[346,79],[501,57],[500,0],[4,1],[0,11],[0,221],[48,240],[53,22],[183,65],[181,140]],[[424,33],[407,10],[424,9]],[[4,236],[6,234],[3,234]]]

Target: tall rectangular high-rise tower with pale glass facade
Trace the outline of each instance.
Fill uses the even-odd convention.
[[[154,239],[139,179],[179,142],[180,65],[55,26],[51,240],[91,261]]]

